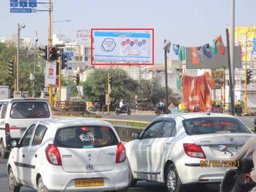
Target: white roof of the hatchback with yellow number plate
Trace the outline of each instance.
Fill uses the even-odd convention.
[[[96,118],[85,118],[85,117],[71,117],[71,118],[50,118],[38,120],[52,127],[68,127],[68,126],[82,126],[82,125],[102,125],[111,126],[112,124]]]

